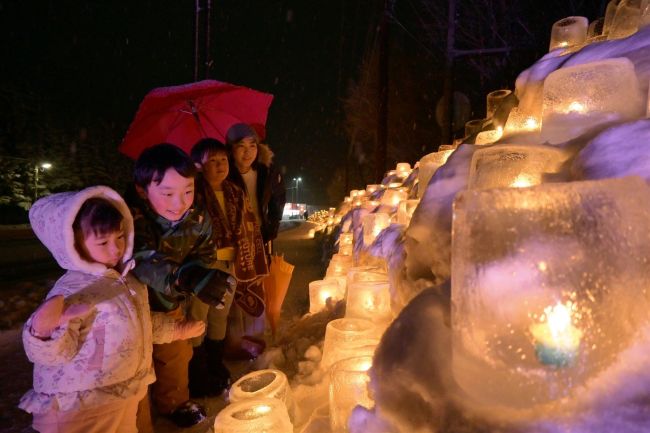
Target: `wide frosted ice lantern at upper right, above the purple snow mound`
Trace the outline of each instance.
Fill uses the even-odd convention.
[[[641,117],[644,102],[627,58],[558,69],[544,81],[542,138],[562,143],[594,127]]]

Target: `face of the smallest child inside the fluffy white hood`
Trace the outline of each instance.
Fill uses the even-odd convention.
[[[111,233],[95,234],[75,233],[81,256],[88,261],[101,263],[107,268],[114,268],[122,260],[126,248],[124,223],[120,229]]]

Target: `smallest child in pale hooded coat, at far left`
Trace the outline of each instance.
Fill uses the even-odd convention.
[[[191,338],[204,326],[150,315],[145,286],[128,273],[133,220],[112,189],[42,198],[29,218],[67,272],[25,323],[34,389],[20,407],[39,432],[136,432],[138,402],[155,378],[152,340]]]

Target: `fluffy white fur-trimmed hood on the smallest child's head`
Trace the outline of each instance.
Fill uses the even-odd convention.
[[[32,230],[52,253],[59,266],[70,271],[103,274],[108,269],[100,263],[84,260],[75,248],[72,224],[83,203],[93,197],[108,200],[124,217],[126,248],[123,262],[133,253],[133,218],[124,199],[107,186],[93,186],[81,191],[52,194],[38,200],[29,210]]]

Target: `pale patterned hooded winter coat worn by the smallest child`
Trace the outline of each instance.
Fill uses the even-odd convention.
[[[88,262],[77,252],[72,224],[92,197],[111,202],[123,215],[126,248],[121,274]],[[155,380],[152,344],[174,339],[175,322],[151,315],[146,287],[128,273],[133,219],[118,193],[105,186],[54,194],[29,212],[32,229],[67,272],[47,299],[63,295],[65,305],[85,304],[87,314],[56,328],[49,339],[32,334],[34,315],[23,328],[23,345],[34,363],[34,389],[20,408],[30,413],[69,411],[144,395]]]

